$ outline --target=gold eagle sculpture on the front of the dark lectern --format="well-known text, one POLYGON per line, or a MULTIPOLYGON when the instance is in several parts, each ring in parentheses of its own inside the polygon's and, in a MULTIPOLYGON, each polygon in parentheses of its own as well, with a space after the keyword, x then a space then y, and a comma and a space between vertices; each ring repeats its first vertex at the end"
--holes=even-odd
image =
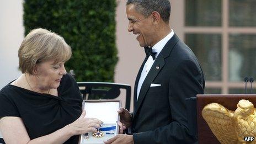
POLYGON ((244 137, 256 136, 256 109, 249 100, 240 100, 235 111, 218 103, 207 104, 202 117, 221 143, 245 143, 244 137))

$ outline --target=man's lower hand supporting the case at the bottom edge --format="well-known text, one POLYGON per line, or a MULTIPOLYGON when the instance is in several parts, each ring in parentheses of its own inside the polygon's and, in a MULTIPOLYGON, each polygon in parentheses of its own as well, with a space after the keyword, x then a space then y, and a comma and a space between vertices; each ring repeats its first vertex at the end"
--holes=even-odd
POLYGON ((116 135, 113 138, 110 138, 108 141, 104 141, 106 144, 133 144, 134 143, 134 138, 132 135, 116 135))

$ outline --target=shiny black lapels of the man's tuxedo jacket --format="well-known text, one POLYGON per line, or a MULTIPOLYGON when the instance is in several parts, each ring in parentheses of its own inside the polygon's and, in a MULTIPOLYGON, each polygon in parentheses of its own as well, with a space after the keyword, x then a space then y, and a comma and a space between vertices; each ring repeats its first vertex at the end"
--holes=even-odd
MULTIPOLYGON (((154 78, 156 78, 157 74, 161 71, 161 69, 165 65, 164 58, 166 58, 170 55, 170 52, 172 51, 175 44, 177 44, 178 40, 179 40, 178 36, 176 34, 174 34, 173 37, 163 47, 162 51, 160 52, 160 54, 157 56, 156 60, 154 61, 150 71, 148 72, 148 74, 141 86, 138 100, 136 101, 138 79, 140 79, 141 71, 142 71, 144 65, 141 66, 140 72, 137 75, 136 83, 135 83, 136 92, 134 92, 134 95, 136 94, 136 97, 134 97, 134 105, 135 105, 134 106, 135 107, 134 108, 134 116, 136 115, 138 108, 140 108, 140 105, 141 105, 143 99, 146 97, 146 93, 147 93, 148 89, 150 88, 150 85, 153 82, 154 78)), ((146 62, 146 60, 144 60, 143 64, 145 64, 145 62, 146 62)))

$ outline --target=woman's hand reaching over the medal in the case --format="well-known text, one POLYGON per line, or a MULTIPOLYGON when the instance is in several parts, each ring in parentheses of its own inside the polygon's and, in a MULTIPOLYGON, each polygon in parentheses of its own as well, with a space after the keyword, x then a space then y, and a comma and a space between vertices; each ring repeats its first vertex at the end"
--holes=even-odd
POLYGON ((97 131, 96 128, 99 128, 103 123, 98 119, 84 118, 84 116, 86 116, 85 110, 83 110, 83 113, 76 121, 66 126, 71 130, 72 135, 82 135, 86 134, 87 132, 97 131))

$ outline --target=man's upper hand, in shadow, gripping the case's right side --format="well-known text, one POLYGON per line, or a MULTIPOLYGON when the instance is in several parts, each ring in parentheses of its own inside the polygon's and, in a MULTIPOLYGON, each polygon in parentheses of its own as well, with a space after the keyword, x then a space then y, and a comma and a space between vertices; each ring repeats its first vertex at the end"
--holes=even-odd
POLYGON ((122 125, 125 127, 130 127, 132 119, 130 112, 125 108, 120 108, 118 113, 120 114, 120 122, 122 122, 122 125))

